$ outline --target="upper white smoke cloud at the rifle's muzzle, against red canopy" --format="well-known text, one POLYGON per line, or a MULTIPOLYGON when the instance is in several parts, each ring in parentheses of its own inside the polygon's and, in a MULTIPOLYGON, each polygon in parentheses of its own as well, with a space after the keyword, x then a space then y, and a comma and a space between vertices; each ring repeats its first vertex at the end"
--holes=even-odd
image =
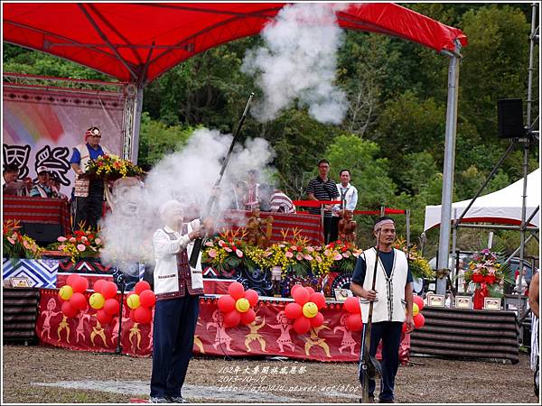
POLYGON ((241 67, 264 92, 251 110, 257 120, 272 120, 297 100, 319 122, 341 123, 348 106, 345 92, 333 85, 343 42, 335 12, 347 6, 285 5, 262 30, 266 46, 248 50, 241 67))

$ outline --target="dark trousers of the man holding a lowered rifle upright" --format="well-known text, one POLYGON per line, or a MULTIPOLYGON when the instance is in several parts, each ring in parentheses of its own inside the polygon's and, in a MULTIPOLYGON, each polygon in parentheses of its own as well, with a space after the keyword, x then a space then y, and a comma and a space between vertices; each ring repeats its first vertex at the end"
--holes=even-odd
MULTIPOLYGON (((373 323, 370 331, 369 354, 377 354, 378 344, 382 340, 382 377, 380 378, 380 395, 382 401, 393 401, 395 378, 399 368, 399 346, 401 344, 401 329, 403 323, 400 321, 379 321, 373 323)), ((365 383, 361 383, 365 385, 365 383)), ((374 396, 376 383, 369 379, 369 396, 374 396)))

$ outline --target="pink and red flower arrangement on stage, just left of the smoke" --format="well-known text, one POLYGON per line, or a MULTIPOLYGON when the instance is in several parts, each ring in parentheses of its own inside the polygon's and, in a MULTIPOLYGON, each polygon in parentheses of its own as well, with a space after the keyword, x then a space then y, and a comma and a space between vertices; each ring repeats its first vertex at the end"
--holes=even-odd
POLYGON ((72 263, 76 263, 80 258, 97 256, 103 247, 98 231, 90 228, 77 230, 73 235, 61 235, 57 241, 58 243, 53 243, 47 248, 70 256, 72 263))

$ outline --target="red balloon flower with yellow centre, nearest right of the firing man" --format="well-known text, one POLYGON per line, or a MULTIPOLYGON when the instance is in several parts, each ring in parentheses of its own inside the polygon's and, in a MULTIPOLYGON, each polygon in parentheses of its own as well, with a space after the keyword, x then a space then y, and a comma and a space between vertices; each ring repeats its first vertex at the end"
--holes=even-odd
POLYGON ((224 315, 224 325, 227 328, 237 327, 239 324, 250 324, 256 319, 254 307, 257 304, 257 291, 248 289, 237 281, 230 283, 228 295, 221 296, 217 306, 224 315))

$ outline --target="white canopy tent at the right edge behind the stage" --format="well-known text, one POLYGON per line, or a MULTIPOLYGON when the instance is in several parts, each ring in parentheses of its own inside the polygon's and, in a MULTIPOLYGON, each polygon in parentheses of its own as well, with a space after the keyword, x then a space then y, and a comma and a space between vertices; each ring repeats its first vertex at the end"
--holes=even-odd
MULTIPOLYGON (((504 189, 497 190, 474 200, 472 207, 465 214, 462 223, 500 223, 508 225, 521 224, 521 208, 523 197, 523 179, 520 179, 504 189)), ((460 217, 463 210, 469 206, 472 199, 458 201, 452 204, 451 218, 460 217), (454 216, 455 210, 455 216, 454 216)), ((526 219, 540 205, 540 168, 527 176, 527 212, 526 219)), ((441 222, 441 206, 425 207, 424 231, 441 222)), ((530 220, 528 226, 539 226, 539 211, 530 220)))

